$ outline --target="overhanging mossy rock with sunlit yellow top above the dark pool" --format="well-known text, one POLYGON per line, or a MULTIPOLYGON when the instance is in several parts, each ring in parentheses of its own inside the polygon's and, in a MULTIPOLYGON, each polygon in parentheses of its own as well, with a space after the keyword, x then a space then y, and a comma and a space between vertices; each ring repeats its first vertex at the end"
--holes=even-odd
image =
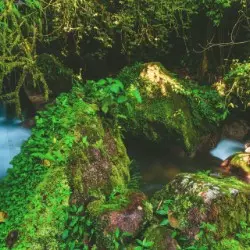
POLYGON ((118 79, 135 85, 142 95, 143 101, 137 105, 132 119, 134 123, 124 125, 135 134, 144 133, 153 140, 179 138, 188 151, 193 151, 202 148, 201 137, 211 134, 221 119, 216 91, 179 79, 160 63, 127 67, 118 79))

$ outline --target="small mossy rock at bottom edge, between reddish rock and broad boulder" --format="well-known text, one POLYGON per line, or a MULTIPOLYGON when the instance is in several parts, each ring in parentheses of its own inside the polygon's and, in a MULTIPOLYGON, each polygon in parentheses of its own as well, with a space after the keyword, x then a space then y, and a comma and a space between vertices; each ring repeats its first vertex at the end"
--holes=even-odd
POLYGON ((146 230, 147 241, 154 242, 155 250, 177 250, 180 249, 176 239, 172 237, 173 231, 163 226, 153 225, 146 230))

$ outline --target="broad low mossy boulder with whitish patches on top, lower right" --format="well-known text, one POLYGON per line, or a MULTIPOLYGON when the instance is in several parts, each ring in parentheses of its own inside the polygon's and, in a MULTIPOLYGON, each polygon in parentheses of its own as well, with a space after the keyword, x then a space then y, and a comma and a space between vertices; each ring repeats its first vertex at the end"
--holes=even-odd
POLYGON ((197 239, 204 223, 215 226, 214 237, 235 235, 241 223, 249 224, 250 186, 234 177, 180 174, 153 197, 155 207, 172 200, 168 220, 189 239, 197 239))

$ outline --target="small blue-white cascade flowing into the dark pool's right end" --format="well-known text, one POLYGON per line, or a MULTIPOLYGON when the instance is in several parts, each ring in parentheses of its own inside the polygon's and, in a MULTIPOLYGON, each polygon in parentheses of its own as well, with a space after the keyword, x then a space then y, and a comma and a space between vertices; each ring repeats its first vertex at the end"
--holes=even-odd
POLYGON ((244 151, 243 143, 235 140, 223 139, 210 151, 210 154, 221 160, 226 160, 229 156, 241 151, 244 151))

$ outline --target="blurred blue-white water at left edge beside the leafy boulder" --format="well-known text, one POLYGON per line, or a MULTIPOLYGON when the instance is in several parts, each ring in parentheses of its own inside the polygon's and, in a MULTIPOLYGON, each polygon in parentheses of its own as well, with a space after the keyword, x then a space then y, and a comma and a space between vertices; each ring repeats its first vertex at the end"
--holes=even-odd
POLYGON ((0 106, 0 178, 6 175, 11 159, 20 152, 30 133, 21 126, 20 120, 7 118, 5 107, 0 106))

